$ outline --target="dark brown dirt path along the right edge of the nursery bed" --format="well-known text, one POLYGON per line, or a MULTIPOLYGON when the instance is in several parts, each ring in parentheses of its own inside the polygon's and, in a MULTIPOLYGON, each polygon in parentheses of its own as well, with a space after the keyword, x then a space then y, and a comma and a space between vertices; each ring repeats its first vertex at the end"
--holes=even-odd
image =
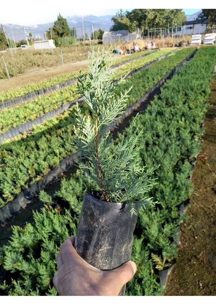
POLYGON ((194 194, 181 225, 179 254, 165 295, 216 295, 216 75, 201 153, 193 172, 194 194))

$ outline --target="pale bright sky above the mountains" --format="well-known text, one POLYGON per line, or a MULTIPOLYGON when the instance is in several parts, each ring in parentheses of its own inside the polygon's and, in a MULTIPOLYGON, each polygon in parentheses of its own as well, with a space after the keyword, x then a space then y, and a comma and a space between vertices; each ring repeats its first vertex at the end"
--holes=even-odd
MULTIPOLYGON (((102 2, 104 3, 104 1, 102 2)), ((106 5, 100 4, 99 0, 2 0, 0 5, 0 23, 13 23, 18 25, 36 25, 48 22, 54 22, 57 20, 59 13, 65 18, 71 15, 115 15, 120 8, 126 8, 124 10, 132 9, 171 9, 172 2, 163 0, 153 2, 151 4, 143 5, 144 1, 136 0, 136 2, 125 2, 125 0, 109 0, 106 1, 106 5), (135 5, 134 7, 128 6, 127 3, 135 5)), ((188 0, 182 0, 179 2, 181 7, 176 7, 175 9, 184 9, 185 14, 191 15, 200 11, 201 9, 192 9, 194 5, 188 5, 188 0), (191 9, 190 9, 191 8, 191 9)), ((205 5, 207 5, 205 3, 205 5)), ((210 5, 209 5, 210 6, 210 5)), ((203 7, 201 1, 196 1, 196 7, 203 7)))

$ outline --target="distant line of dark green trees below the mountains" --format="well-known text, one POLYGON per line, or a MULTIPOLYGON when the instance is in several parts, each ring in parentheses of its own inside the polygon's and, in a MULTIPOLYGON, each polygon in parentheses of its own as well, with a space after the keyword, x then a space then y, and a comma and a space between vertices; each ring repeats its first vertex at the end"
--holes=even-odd
MULTIPOLYGON (((216 25, 216 9, 202 9, 198 19, 208 20, 209 26, 216 25)), ((186 21, 186 16, 182 9, 134 9, 126 12, 118 11, 113 16, 112 21, 113 25, 110 31, 126 29, 131 33, 139 28, 144 34, 148 28, 168 28, 168 26, 172 28, 173 24, 181 25, 186 21)), ((101 28, 92 32, 91 40, 96 39, 102 42, 103 33, 104 31, 101 28)), ((78 40, 76 28, 70 28, 67 19, 61 14, 58 15, 54 25, 47 30, 45 38, 53 39, 57 47, 74 44, 78 40)), ((29 39, 33 41, 31 33, 29 39)), ((89 37, 86 33, 83 33, 80 40, 89 40, 89 37)), ((25 44, 25 41, 20 42, 20 44, 22 43, 25 44)), ((6 38, 2 27, 0 28, 0 50, 5 50, 7 47, 10 47, 10 40, 6 38)))

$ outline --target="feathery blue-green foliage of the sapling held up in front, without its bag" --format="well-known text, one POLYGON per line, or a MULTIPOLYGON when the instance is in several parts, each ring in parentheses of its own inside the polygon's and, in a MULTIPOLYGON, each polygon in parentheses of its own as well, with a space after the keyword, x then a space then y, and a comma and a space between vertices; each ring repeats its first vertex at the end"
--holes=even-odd
POLYGON ((142 167, 136 119, 130 124, 127 134, 113 140, 111 127, 125 111, 130 92, 116 94, 123 78, 113 82, 109 64, 110 52, 105 50, 89 54, 89 74, 80 71, 77 91, 90 108, 90 115, 82 114, 76 107, 77 125, 74 143, 79 151, 78 166, 96 182, 106 202, 129 204, 135 212, 134 202, 140 206, 153 204, 147 194, 155 184, 151 178, 153 169, 142 167))

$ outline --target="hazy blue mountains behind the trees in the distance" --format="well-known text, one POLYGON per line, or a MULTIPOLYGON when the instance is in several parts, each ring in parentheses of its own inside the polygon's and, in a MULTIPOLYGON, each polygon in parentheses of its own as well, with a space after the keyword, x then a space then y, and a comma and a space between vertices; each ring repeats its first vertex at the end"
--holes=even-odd
MULTIPOLYGON (((196 19, 198 14, 193 15, 186 15, 187 20, 194 20, 196 19)), ((105 16, 68 16, 65 17, 68 25, 70 28, 75 27, 76 33, 78 38, 82 38, 83 33, 86 33, 88 37, 91 37, 93 31, 98 30, 101 28, 104 32, 110 31, 111 26, 113 25, 112 15, 105 15, 105 16)), ((22 26, 18 24, 3 24, 6 35, 8 38, 15 40, 16 42, 20 40, 25 40, 26 37, 29 37, 29 33, 32 34, 34 39, 44 39, 44 33, 47 31, 48 28, 54 25, 54 22, 45 23, 45 24, 37 24, 31 26, 22 26)))

